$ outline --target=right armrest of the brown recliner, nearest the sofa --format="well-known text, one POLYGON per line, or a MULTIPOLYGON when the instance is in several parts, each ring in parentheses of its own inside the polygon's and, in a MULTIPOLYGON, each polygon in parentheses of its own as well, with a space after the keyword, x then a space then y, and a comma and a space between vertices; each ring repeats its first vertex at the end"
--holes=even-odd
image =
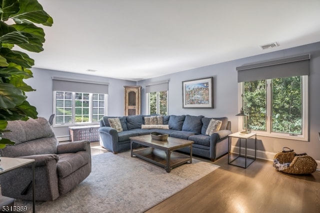
POLYGON ((78 151, 90 151, 90 141, 80 140, 74 142, 64 142, 57 145, 57 153, 75 153, 78 151))

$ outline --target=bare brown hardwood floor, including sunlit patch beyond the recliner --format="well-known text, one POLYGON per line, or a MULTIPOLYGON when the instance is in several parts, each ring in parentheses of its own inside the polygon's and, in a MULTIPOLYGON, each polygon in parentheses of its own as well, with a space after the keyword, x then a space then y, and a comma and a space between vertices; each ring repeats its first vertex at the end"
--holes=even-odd
MULTIPOLYGON (((92 154, 106 151, 91 142, 92 154)), ((245 169, 227 155, 213 163, 221 167, 145 212, 320 212, 320 171, 286 174, 262 159, 245 169)))

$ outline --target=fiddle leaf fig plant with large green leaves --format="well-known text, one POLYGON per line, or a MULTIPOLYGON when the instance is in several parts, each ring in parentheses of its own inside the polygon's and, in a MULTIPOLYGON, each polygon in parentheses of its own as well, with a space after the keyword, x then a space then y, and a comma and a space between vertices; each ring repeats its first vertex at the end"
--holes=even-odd
POLYGON ((36 118, 36 108, 26 100, 25 92, 34 91, 23 79, 32 76, 34 60, 21 49, 43 50, 44 31, 39 24, 51 26, 52 17, 37 0, 0 0, 0 148, 13 141, 3 138, 8 120, 36 118))

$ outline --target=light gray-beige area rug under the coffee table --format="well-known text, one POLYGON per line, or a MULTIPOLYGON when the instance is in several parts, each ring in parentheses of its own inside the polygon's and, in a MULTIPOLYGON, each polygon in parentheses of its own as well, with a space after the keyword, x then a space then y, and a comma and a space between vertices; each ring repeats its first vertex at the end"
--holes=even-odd
MULTIPOLYGON (((36 212, 143 212, 219 166, 192 159, 167 173, 130 152, 92 156, 92 172, 77 187, 54 201, 36 201, 36 212)), ((32 202, 16 200, 15 205, 32 202)))

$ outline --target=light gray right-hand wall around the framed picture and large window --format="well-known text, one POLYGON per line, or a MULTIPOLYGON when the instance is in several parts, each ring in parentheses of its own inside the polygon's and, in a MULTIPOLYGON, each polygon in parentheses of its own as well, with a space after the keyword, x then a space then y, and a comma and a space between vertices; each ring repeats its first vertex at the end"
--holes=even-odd
POLYGON ((309 74, 309 141, 297 141, 271 137, 257 137, 257 150, 260 157, 270 158, 275 152, 282 150, 283 146, 294 149, 297 153, 307 152, 313 158, 320 160, 320 42, 294 48, 269 52, 237 60, 212 64, 195 69, 163 75, 152 79, 138 81, 142 86, 142 113, 145 113, 145 85, 152 82, 169 80, 168 113, 204 115, 209 117, 227 116, 231 121, 231 130, 238 131, 238 83, 236 66, 244 64, 273 60, 276 58, 290 57, 310 53, 309 74), (207 108, 182 108, 182 81, 213 76, 213 104, 207 108))

